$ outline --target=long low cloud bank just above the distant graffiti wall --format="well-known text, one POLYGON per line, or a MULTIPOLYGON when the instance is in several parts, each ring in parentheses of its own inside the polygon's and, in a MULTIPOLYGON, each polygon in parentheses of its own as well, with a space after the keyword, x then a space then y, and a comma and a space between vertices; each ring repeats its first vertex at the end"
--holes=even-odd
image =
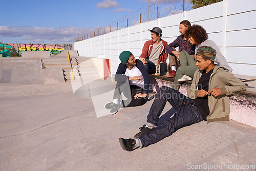
POLYGON ((32 28, 32 27, 7 27, 0 26, 0 35, 2 39, 18 38, 22 40, 31 40, 38 42, 38 40, 48 41, 73 41, 92 29, 90 28, 76 28, 76 27, 61 27, 61 28, 32 28))

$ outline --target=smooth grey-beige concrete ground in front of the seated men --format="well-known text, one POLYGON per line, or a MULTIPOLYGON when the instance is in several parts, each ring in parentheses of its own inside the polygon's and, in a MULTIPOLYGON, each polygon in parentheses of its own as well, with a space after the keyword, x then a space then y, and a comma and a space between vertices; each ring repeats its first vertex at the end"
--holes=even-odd
POLYGON ((71 82, 0 91, 0 170, 256 170, 256 128, 233 120, 203 121, 126 152, 118 138, 139 132, 154 99, 97 117, 95 102, 74 97, 71 82))

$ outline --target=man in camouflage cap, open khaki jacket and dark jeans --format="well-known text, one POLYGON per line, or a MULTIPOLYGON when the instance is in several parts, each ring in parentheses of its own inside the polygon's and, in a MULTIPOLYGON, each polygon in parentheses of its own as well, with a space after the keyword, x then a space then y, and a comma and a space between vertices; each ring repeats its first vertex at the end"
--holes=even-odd
POLYGON ((202 46, 196 54, 198 70, 194 74, 187 96, 169 87, 161 87, 147 115, 147 123, 140 127, 135 139, 119 138, 126 151, 143 148, 172 135, 182 127, 200 121, 228 121, 229 96, 246 90, 246 85, 227 69, 216 66, 216 50, 202 46), (166 102, 177 111, 172 118, 157 126, 166 102))

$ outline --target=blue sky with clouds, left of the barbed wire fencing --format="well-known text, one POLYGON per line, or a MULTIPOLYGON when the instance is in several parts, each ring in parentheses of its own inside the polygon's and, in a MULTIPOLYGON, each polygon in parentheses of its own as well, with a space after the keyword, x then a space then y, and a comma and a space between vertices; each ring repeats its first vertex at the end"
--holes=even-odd
MULTIPOLYGON (((150 6, 156 1, 150 0, 150 6)), ((146 9, 148 0, 0 0, 0 4, 0 42, 50 44, 72 43, 94 28, 146 9)))

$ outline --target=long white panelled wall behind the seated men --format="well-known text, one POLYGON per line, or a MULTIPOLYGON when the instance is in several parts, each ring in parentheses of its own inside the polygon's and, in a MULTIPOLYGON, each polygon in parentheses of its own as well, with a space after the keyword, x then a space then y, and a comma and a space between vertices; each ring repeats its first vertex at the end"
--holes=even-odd
POLYGON ((226 57, 234 74, 256 76, 256 1, 224 0, 202 8, 158 18, 151 22, 124 28, 74 42, 79 56, 110 59, 111 74, 120 63, 119 54, 130 50, 136 58, 144 42, 150 40, 153 27, 160 27, 168 44, 180 35, 179 23, 187 19, 204 27, 226 57))

